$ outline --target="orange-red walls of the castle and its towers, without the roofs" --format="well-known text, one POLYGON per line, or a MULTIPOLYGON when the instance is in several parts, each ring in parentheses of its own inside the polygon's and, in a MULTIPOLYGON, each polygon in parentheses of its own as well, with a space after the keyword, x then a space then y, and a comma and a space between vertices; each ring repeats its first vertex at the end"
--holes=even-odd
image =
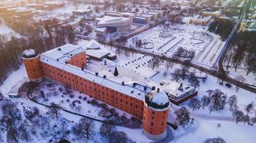
MULTIPOLYGON (((144 131, 147 132, 147 134, 152 134, 154 136, 165 132, 168 110, 162 112, 155 111, 155 114, 152 114, 152 112, 154 112, 153 109, 145 107, 142 100, 116 92, 114 89, 109 89, 96 82, 88 81, 83 77, 79 77, 78 75, 63 69, 58 69, 58 67, 51 66, 50 64, 46 64, 45 62, 40 61, 38 56, 40 55, 29 59, 22 57, 29 79, 44 77, 45 79, 50 79, 63 84, 70 89, 99 99, 101 102, 105 102, 113 107, 122 109, 124 112, 132 114, 134 117, 143 119, 144 131)), ((73 66, 79 67, 85 66, 86 53, 82 52, 81 54, 76 55, 75 59, 71 59, 69 62, 66 62, 66 64, 73 64, 73 66)))

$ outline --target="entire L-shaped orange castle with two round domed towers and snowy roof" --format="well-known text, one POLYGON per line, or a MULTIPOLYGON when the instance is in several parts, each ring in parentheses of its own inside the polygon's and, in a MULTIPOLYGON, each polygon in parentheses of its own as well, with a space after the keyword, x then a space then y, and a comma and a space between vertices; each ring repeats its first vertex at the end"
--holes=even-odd
POLYGON ((27 49, 22 59, 30 81, 50 79, 63 84, 142 119, 143 133, 149 139, 158 141, 166 137, 170 107, 166 92, 145 83, 117 82, 84 69, 86 49, 72 44, 42 54, 27 49))

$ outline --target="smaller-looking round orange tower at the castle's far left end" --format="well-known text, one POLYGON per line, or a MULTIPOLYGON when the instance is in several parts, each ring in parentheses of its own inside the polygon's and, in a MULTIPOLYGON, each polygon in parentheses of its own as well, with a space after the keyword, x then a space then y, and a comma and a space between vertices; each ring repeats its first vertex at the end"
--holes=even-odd
POLYGON ((27 49, 23 52, 22 59, 29 80, 32 82, 42 81, 39 54, 34 49, 27 49))

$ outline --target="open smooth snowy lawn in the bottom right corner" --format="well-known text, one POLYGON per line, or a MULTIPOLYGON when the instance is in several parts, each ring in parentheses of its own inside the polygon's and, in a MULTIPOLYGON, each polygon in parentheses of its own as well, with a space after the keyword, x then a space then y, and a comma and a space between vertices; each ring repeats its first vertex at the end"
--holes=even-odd
POLYGON ((204 142, 208 138, 221 137, 227 143, 255 143, 256 127, 247 124, 235 124, 234 122, 214 119, 197 119, 199 126, 195 132, 186 134, 172 143, 204 142), (221 124, 221 127, 217 127, 221 124))

